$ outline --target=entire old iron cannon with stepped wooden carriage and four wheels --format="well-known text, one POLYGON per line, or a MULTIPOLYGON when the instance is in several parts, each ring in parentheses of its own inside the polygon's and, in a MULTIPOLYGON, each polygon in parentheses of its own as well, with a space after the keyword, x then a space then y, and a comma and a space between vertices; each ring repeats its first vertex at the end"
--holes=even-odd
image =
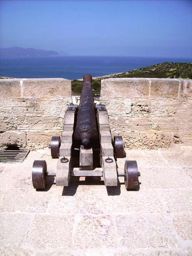
POLYGON ((92 76, 84 75, 79 106, 67 105, 64 129, 51 139, 51 156, 57 158, 56 173, 48 173, 45 160, 35 160, 32 183, 35 189, 45 189, 47 178, 56 177, 56 186, 68 186, 71 176, 100 176, 104 184, 117 186, 123 176, 127 190, 138 190, 138 166, 126 160, 124 172, 118 172, 117 158, 124 158, 121 136, 112 138, 109 116, 104 104, 95 105, 92 76))

